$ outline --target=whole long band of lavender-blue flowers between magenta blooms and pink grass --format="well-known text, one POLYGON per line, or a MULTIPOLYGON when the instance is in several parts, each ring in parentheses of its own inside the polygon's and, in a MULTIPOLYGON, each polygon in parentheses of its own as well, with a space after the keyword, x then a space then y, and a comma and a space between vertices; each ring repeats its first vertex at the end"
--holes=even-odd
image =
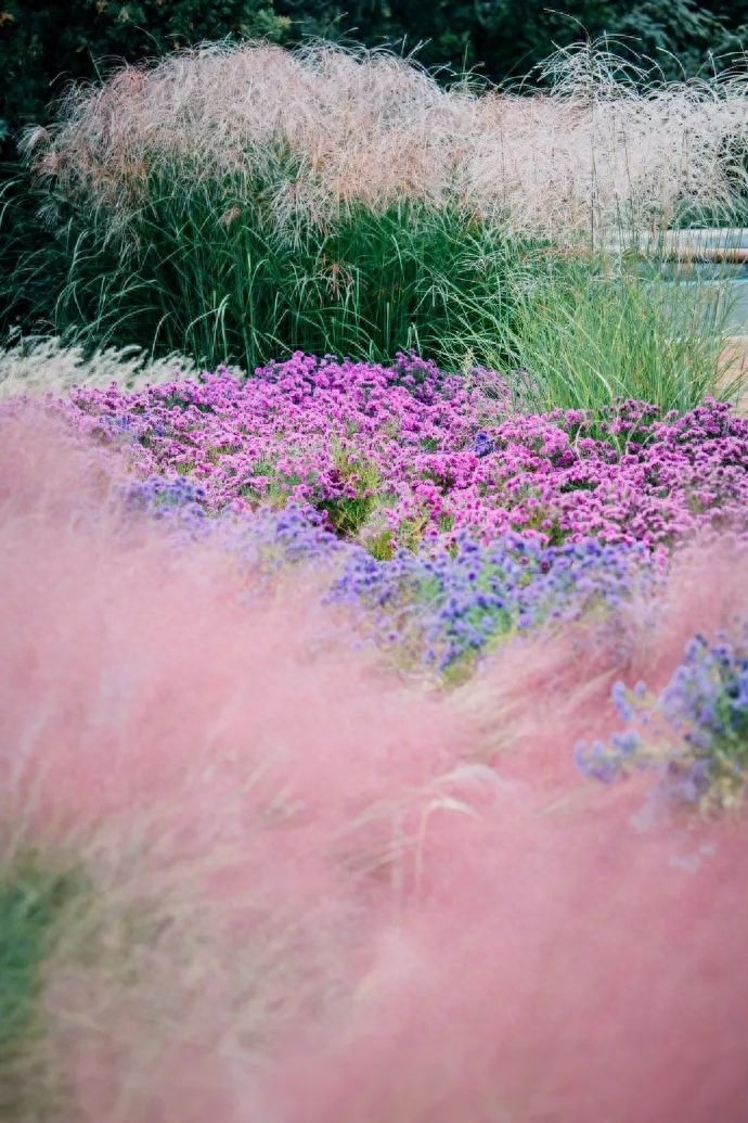
POLYGON ((400 550, 376 559, 324 528, 323 517, 293 504, 250 518, 206 515, 204 489, 184 477, 151 476, 123 489, 126 506, 167 523, 182 541, 220 535, 255 568, 314 559, 327 565, 326 600, 347 605, 364 632, 397 643, 412 661, 440 673, 467 666, 497 638, 543 623, 610 612, 635 592, 650 594, 661 568, 645 547, 595 539, 560 547, 505 535, 489 546, 462 532, 450 550, 400 550))

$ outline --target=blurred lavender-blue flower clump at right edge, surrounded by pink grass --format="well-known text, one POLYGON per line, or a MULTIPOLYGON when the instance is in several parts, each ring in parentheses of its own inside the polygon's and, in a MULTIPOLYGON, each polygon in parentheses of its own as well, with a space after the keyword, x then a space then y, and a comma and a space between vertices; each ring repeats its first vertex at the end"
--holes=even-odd
POLYGON ((738 642, 695 636, 658 696, 619 682, 612 697, 627 728, 608 745, 578 745, 585 775, 611 783, 655 768, 667 793, 687 803, 737 802, 748 785, 748 628, 738 642))

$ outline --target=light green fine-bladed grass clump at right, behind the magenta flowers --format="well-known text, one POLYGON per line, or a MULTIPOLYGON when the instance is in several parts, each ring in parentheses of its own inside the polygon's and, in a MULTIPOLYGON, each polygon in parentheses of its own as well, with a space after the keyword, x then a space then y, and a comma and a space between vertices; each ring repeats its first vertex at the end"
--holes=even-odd
POLYGON ((467 316, 451 358, 455 364, 469 354, 487 366, 508 364, 523 409, 599 411, 637 399, 687 410, 715 391, 722 295, 719 285, 668 284, 626 272, 606 276, 551 262, 518 294, 510 322, 497 320, 492 331, 475 334, 467 316))

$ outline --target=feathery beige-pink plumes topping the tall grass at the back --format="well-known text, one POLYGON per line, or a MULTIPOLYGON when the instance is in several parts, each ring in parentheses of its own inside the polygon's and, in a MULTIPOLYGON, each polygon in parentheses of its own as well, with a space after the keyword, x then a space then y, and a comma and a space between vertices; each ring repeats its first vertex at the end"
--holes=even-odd
POLYGON ((418 200, 574 240, 665 228, 684 206, 733 211, 747 179, 746 76, 636 76, 584 45, 548 63, 546 92, 517 97, 470 81, 444 89, 381 51, 209 44, 73 86, 26 149, 41 176, 120 218, 157 168, 238 176, 240 192, 265 181, 281 225, 418 200))

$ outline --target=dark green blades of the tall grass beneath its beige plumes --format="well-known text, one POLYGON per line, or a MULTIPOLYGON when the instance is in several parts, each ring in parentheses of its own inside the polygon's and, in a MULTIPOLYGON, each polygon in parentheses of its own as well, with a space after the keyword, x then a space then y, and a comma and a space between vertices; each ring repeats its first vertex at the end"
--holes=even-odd
POLYGON ((67 203, 0 300, 22 293, 27 319, 89 349, 176 347, 246 369, 298 348, 388 360, 415 347, 442 359, 465 301, 475 330, 510 314, 508 279, 526 270, 526 250, 500 229, 418 201, 381 214, 351 207, 332 226, 279 225, 266 188, 163 170, 116 234, 103 210, 67 203))

